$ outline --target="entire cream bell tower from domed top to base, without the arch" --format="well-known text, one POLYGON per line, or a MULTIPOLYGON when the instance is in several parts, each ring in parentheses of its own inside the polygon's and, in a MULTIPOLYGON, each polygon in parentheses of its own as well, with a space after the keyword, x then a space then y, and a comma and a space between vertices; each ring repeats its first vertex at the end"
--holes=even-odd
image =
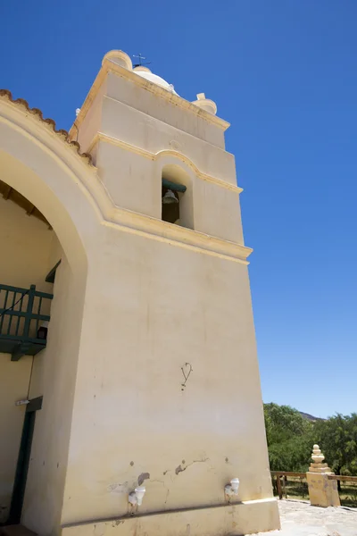
POLYGON ((70 521, 99 520, 124 517, 135 504, 140 517, 113 535, 279 526, 248 278, 252 250, 243 239, 235 159, 225 150, 229 124, 216 113, 204 93, 189 102, 114 50, 71 128, 112 200, 112 222, 104 222, 88 268, 97 308, 88 314, 105 336, 79 368, 77 450, 69 455, 76 465, 64 508, 70 521), (104 323, 99 303, 110 311, 104 323))

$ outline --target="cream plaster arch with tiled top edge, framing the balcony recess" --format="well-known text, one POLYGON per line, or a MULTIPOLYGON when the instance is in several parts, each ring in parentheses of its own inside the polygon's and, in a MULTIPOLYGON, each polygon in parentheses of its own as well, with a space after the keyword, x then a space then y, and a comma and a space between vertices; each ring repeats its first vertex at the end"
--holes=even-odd
MULTIPOLYGON (((98 225, 101 213, 86 187, 87 182, 93 180, 93 169, 69 144, 63 142, 62 135, 57 135, 35 114, 31 116, 20 108, 0 99, 0 180, 26 198, 33 205, 33 210, 38 210, 49 222, 53 231, 47 228, 46 231, 58 238, 57 253, 61 256, 62 263, 54 282, 46 349, 36 357, 29 356, 30 361, 25 367, 21 366, 21 362, 9 363, 9 354, 2 354, 0 358, 6 360, 8 368, 12 367, 15 379, 18 375, 19 383, 22 381, 21 389, 16 392, 17 398, 25 399, 26 403, 26 398, 43 397, 43 406, 38 412, 33 435, 22 520, 28 526, 34 526, 36 522, 38 526, 38 518, 41 517, 43 532, 49 533, 59 523, 61 516, 87 281, 87 249, 90 247, 90 234, 98 225)), ((18 209, 20 210, 19 206, 16 207, 18 209)), ((6 217, 4 211, 0 217, 2 214, 6 217)), ((45 222, 39 223, 46 225, 45 222)), ((24 247, 23 241, 19 241, 19 246, 24 247)), ((15 250, 16 243, 13 245, 13 251, 15 250)), ((15 263, 14 258, 12 265, 15 263)), ((3 268, 4 266, 3 263, 3 268)), ((6 270, 6 281, 10 284, 9 266, 11 263, 6 264, 2 273, 0 264, 0 283, 6 270)), ((23 262, 16 265, 12 275, 14 279, 18 278, 18 282, 14 286, 20 286, 21 278, 21 281, 26 280, 25 272, 28 268, 23 262)), ((4 374, 0 378, 0 385, 1 383, 6 384, 4 374)), ((12 398, 13 393, 10 394, 9 402, 12 411, 18 412, 19 422, 19 417, 21 420, 25 415, 26 404, 15 406, 17 400, 12 398)), ((9 424, 9 419, 6 423, 9 424)), ((6 431, 0 432, 6 437, 6 431)), ((20 441, 21 431, 17 435, 20 441)), ((19 445, 13 446, 15 457, 18 447, 19 445)), ((6 500, 8 509, 9 498, 6 500)))

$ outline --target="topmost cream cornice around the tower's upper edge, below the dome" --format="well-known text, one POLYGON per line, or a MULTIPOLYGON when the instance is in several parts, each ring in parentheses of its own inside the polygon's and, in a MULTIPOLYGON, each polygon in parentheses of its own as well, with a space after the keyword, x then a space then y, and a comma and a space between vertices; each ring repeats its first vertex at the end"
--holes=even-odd
POLYGON ((154 84, 154 82, 150 82, 149 80, 144 79, 143 77, 139 76, 135 71, 129 71, 128 69, 121 67, 117 63, 113 63, 109 59, 104 59, 104 63, 100 71, 98 72, 95 78, 95 81, 89 90, 89 93, 87 94, 86 100, 84 101, 83 105, 80 108, 79 115, 76 118, 76 120, 73 122, 73 125, 71 126, 71 129, 70 129, 71 138, 74 138, 77 135, 77 130, 79 129, 81 122, 84 121, 87 115, 87 112, 90 108, 90 105, 93 103, 95 99, 98 89, 101 87, 106 75, 109 72, 113 72, 117 74, 118 76, 120 76, 121 78, 131 80, 137 86, 141 88, 145 88, 147 91, 154 93, 155 95, 161 97, 162 99, 166 101, 172 102, 172 104, 178 106, 179 108, 188 110, 191 113, 195 113, 195 115, 197 115, 198 117, 202 117, 205 121, 213 123, 214 125, 219 127, 221 130, 227 130, 228 127, 230 126, 230 123, 228 123, 228 121, 225 121, 224 119, 220 119, 220 117, 217 117, 217 115, 213 115, 212 113, 206 112, 206 110, 203 110, 203 108, 200 108, 199 106, 196 106, 193 103, 190 103, 189 101, 182 98, 181 96, 175 95, 174 93, 171 93, 167 89, 162 88, 158 86, 157 84, 154 84))

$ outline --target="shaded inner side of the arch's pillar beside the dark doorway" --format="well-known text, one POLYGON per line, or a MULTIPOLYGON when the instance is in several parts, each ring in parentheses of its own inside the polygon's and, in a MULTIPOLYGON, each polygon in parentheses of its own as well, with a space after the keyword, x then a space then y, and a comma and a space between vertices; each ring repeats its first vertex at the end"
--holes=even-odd
POLYGON ((77 278, 61 256, 47 348, 35 358, 29 391, 31 398, 43 396, 43 406, 37 412, 22 523, 44 536, 57 533, 61 518, 86 283, 86 273, 77 278))

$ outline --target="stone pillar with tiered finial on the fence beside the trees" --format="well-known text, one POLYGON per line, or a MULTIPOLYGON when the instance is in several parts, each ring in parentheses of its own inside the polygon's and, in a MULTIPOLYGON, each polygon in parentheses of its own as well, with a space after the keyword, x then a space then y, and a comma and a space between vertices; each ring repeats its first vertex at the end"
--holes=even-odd
POLYGON ((328 474, 332 473, 328 464, 323 464, 325 456, 321 453, 319 445, 314 445, 309 472, 306 473, 309 487, 309 497, 313 507, 340 507, 337 482, 328 480, 328 474))

